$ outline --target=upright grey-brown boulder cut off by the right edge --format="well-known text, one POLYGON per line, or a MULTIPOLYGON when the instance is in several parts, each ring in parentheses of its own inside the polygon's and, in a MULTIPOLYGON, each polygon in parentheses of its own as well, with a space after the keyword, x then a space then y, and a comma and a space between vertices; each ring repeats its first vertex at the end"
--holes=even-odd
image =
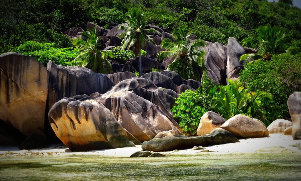
POLYGON ((301 92, 295 92, 287 100, 290 117, 293 122, 293 139, 301 139, 301 92))

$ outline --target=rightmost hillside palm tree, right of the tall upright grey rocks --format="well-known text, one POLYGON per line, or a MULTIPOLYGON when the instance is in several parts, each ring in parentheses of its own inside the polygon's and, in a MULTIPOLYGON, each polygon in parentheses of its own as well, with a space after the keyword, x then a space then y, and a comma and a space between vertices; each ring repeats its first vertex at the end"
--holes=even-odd
MULTIPOLYGON (((286 35, 281 32, 277 26, 259 27, 256 40, 245 38, 242 40, 243 45, 256 48, 257 53, 248 53, 240 56, 240 61, 243 60, 268 60, 270 61, 273 54, 281 53, 281 48, 287 42, 286 35)), ((289 48, 286 52, 295 52, 295 48, 289 48)))

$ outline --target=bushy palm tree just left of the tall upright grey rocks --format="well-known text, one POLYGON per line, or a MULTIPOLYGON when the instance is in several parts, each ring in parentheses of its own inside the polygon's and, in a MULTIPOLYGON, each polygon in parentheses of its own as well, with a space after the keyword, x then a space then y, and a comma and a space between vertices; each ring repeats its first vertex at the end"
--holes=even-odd
POLYGON ((205 51, 201 48, 205 42, 192 38, 191 34, 186 33, 187 26, 181 26, 172 32, 172 39, 165 38, 161 42, 162 49, 157 55, 159 60, 170 57, 174 58, 168 65, 167 70, 173 70, 184 79, 200 80, 200 73, 197 69, 201 66, 206 70, 204 64, 205 51))

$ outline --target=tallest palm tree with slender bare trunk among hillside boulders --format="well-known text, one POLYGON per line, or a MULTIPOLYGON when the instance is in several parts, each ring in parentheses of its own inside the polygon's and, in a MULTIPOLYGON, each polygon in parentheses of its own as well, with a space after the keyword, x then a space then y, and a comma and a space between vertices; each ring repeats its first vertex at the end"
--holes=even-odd
POLYGON ((156 44, 153 39, 151 39, 147 34, 160 34, 157 30, 145 29, 147 21, 150 18, 145 18, 145 14, 138 10, 137 8, 132 9, 132 13, 126 16, 127 25, 120 25, 120 30, 125 30, 126 32, 119 35, 119 38, 123 38, 121 42, 121 48, 131 48, 134 47, 135 56, 139 55, 139 73, 142 76, 142 65, 141 65, 141 46, 145 47, 147 42, 151 44, 156 44))

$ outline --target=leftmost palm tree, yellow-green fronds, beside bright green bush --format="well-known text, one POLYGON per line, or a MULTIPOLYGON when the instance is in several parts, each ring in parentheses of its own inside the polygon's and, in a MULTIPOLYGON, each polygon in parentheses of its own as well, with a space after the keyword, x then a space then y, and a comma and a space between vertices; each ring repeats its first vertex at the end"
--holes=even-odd
POLYGON ((81 53, 74 58, 72 62, 79 59, 82 61, 82 67, 90 67, 94 72, 106 73, 104 64, 107 66, 110 73, 112 73, 112 66, 107 60, 108 57, 114 57, 114 53, 110 50, 100 50, 101 38, 97 36, 96 26, 93 30, 87 29, 86 32, 81 34, 82 38, 76 38, 73 40, 73 45, 76 46, 81 53), (85 40, 84 40, 85 39, 85 40))

